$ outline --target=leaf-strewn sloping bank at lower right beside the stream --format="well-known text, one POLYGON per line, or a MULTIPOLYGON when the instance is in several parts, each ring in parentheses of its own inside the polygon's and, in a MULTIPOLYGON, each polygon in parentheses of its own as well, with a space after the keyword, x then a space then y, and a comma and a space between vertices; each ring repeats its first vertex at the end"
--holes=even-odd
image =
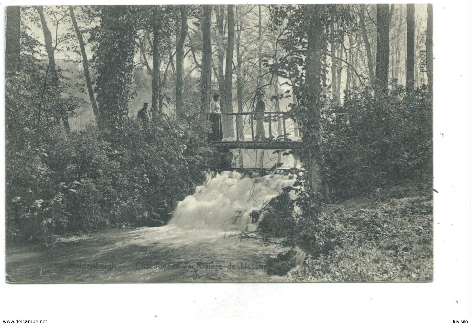
POLYGON ((431 184, 377 188, 341 204, 326 204, 318 215, 335 237, 298 235, 309 256, 298 282, 428 282, 433 278, 433 207, 431 184), (315 247, 324 241, 329 249, 315 247))

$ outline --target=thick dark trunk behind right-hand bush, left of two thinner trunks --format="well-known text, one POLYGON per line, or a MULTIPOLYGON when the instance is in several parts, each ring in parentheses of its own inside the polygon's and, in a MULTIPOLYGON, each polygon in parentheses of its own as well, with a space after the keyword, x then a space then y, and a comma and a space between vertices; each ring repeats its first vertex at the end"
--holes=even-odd
POLYGON ((374 90, 376 94, 388 92, 389 75, 389 5, 376 5, 376 80, 374 90))

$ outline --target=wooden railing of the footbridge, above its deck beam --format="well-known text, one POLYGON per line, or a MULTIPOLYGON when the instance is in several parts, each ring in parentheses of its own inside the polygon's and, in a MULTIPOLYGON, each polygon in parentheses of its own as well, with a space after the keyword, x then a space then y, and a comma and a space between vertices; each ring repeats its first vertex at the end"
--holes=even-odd
MULTIPOLYGON (((301 141, 288 111, 221 113, 223 141, 301 141)), ((207 114, 208 116, 211 114, 207 114)))

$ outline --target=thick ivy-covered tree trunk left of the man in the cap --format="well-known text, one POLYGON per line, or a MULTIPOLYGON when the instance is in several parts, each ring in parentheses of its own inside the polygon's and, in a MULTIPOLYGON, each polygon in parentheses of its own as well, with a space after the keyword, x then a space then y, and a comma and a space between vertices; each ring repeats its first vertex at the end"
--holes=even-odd
POLYGON ((129 114, 137 38, 135 8, 103 6, 94 30, 98 125, 120 130, 129 114))

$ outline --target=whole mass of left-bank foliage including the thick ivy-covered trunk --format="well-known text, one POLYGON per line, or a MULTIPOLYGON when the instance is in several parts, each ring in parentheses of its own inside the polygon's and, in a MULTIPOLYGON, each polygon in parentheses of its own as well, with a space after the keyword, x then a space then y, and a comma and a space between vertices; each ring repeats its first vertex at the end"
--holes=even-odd
POLYGON ((132 6, 95 10, 101 18, 91 32, 99 118, 79 132, 67 132, 62 122, 83 103, 70 94, 83 85, 69 89, 58 67, 51 82, 42 44, 21 34, 21 69, 6 79, 9 241, 165 224, 175 202, 200 182, 201 170, 227 163, 219 158, 227 152, 214 154, 208 143, 198 93, 185 93, 179 121, 164 114, 150 122, 129 118, 140 14, 132 6))

